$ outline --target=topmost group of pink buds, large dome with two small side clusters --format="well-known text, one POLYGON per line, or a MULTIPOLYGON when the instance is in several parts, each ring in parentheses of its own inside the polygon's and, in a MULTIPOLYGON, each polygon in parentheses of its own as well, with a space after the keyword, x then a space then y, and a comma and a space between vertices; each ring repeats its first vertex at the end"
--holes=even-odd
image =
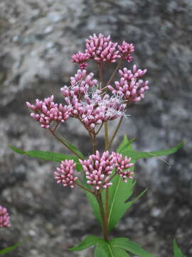
POLYGON ((78 52, 71 56, 71 61, 80 64, 80 69, 85 69, 87 64, 85 61, 94 59, 97 63, 109 62, 114 63, 119 58, 127 59, 128 62, 132 61, 132 52, 134 45, 126 41, 122 45, 118 45, 110 40, 109 36, 93 34, 90 39, 85 40, 85 53, 78 52), (118 50, 119 49, 119 50, 118 50))

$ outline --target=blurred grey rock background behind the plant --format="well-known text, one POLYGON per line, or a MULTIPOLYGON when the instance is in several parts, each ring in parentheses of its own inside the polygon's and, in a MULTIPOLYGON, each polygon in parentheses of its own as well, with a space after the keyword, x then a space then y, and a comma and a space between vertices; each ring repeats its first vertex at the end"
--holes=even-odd
MULTIPOLYGON (((62 102, 60 87, 78 69, 71 54, 84 51, 85 39, 100 32, 133 43, 134 64, 148 69, 150 90, 129 108, 115 145, 124 133, 137 137, 140 151, 185 141, 165 157, 171 167, 158 158, 138 161, 135 195, 146 187, 148 192, 113 236, 132 238, 156 257, 173 256, 176 238, 186 257, 192 256, 192 1, 0 0, 0 14, 0 204, 9 209, 12 225, 1 229, 0 247, 29 236, 7 256, 92 256, 91 249, 66 251, 84 236, 100 236, 84 193, 55 183, 57 163, 19 156, 8 145, 68 153, 30 118, 25 102, 51 94, 62 102)), ((59 131, 90 152, 86 131, 73 120, 59 131)))

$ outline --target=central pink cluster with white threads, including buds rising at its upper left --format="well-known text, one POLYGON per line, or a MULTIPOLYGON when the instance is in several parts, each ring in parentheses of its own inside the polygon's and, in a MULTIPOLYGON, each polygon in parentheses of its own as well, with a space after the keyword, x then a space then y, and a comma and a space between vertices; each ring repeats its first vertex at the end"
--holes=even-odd
POLYGON ((64 86, 60 89, 71 116, 80 119, 88 129, 105 121, 117 119, 124 116, 125 104, 117 96, 110 97, 108 94, 102 95, 102 90, 95 89, 96 79, 92 79, 94 74, 87 75, 85 70, 78 70, 74 77, 71 77, 71 86, 64 86), (88 91, 92 87, 92 92, 88 91))

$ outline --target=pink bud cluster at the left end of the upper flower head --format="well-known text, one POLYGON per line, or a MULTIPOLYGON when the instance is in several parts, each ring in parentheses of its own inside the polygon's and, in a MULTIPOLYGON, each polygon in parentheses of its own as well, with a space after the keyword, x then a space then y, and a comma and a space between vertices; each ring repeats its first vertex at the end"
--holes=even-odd
POLYGON ((68 106, 63 106, 62 104, 55 104, 53 102, 54 97, 51 96, 44 101, 36 99, 36 105, 26 102, 31 111, 31 117, 36 121, 39 121, 42 128, 49 129, 50 123, 52 121, 64 122, 70 117, 70 111, 68 106))

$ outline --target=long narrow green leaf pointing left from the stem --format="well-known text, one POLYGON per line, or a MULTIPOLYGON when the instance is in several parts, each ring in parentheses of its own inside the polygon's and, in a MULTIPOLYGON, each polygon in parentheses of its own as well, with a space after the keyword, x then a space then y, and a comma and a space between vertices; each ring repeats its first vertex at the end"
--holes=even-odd
POLYGON ((19 154, 26 154, 29 157, 33 158, 39 158, 41 160, 46 160, 46 161, 63 161, 63 160, 73 160, 77 164, 76 169, 77 171, 82 170, 82 166, 79 163, 78 157, 76 156, 68 156, 63 153, 53 153, 50 151, 23 151, 21 149, 18 149, 14 146, 9 146, 13 151, 19 154))

